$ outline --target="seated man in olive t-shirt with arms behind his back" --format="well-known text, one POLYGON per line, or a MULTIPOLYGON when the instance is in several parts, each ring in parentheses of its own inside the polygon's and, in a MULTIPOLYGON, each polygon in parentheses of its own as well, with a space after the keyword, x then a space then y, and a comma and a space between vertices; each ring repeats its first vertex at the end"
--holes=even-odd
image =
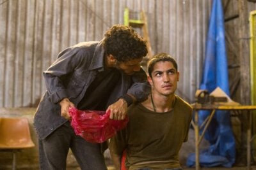
POLYGON ((148 62, 148 82, 152 94, 142 103, 132 104, 127 127, 109 144, 116 169, 125 150, 125 166, 133 169, 181 169, 179 151, 188 140, 191 106, 175 95, 179 72, 166 53, 148 62))

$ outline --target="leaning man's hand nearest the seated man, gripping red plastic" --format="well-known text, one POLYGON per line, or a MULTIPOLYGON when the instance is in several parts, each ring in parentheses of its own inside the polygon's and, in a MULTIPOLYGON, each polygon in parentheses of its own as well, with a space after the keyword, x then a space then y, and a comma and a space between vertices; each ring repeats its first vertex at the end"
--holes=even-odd
POLYGON ((116 103, 108 106, 107 111, 110 111, 109 118, 114 120, 124 120, 127 114, 127 103, 124 99, 119 99, 116 103))

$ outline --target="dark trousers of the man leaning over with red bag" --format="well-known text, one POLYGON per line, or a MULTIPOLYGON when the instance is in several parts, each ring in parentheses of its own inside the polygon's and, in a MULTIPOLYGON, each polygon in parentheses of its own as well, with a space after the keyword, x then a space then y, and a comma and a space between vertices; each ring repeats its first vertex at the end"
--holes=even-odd
POLYGON ((41 170, 65 170, 69 148, 82 170, 106 170, 100 144, 89 143, 76 136, 70 122, 62 125, 47 138, 39 140, 41 170))

